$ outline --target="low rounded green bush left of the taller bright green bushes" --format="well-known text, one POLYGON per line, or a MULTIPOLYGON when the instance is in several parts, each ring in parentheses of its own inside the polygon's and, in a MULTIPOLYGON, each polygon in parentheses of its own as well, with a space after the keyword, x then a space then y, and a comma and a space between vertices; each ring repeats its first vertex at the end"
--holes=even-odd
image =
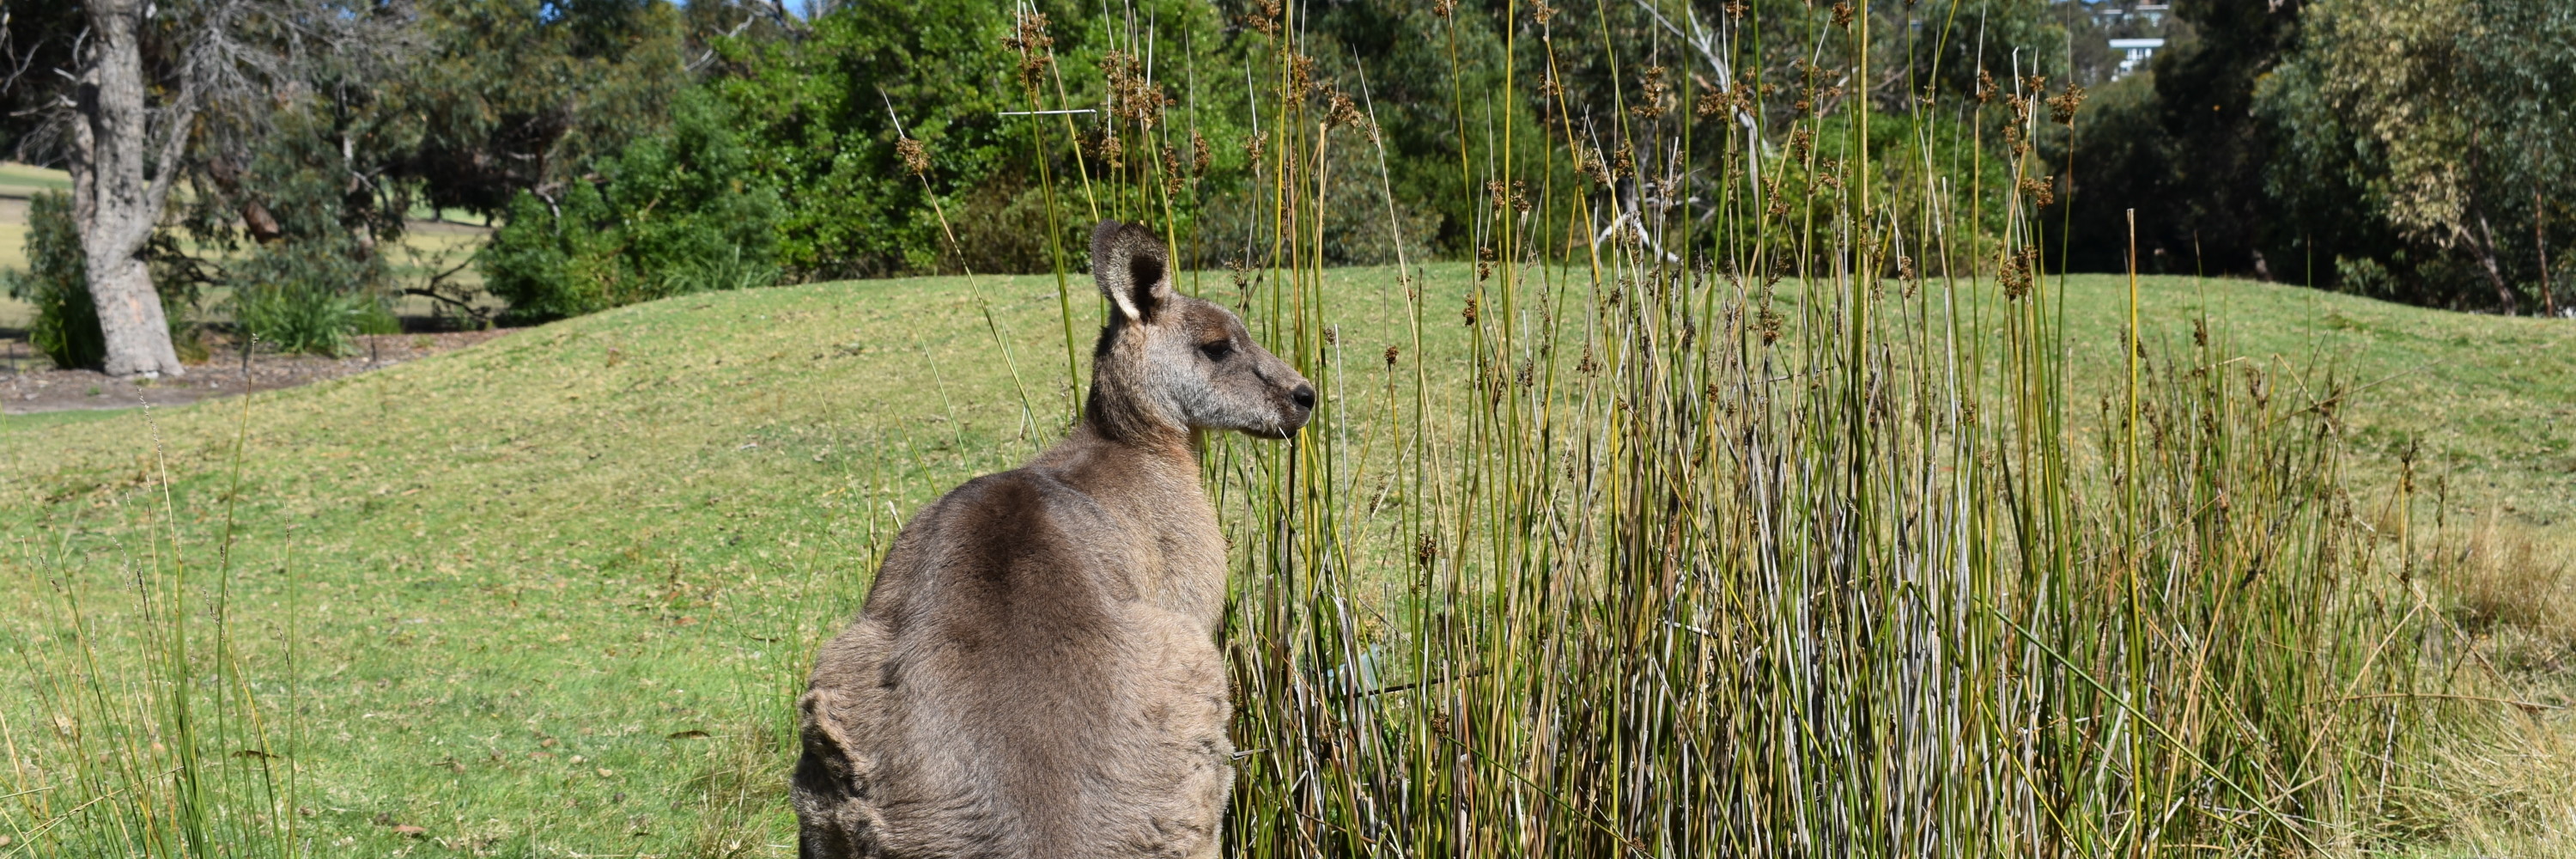
POLYGON ((683 95, 672 129, 546 201, 520 191, 479 253, 513 320, 556 320, 688 291, 778 281, 778 199, 744 181, 732 111, 683 95))

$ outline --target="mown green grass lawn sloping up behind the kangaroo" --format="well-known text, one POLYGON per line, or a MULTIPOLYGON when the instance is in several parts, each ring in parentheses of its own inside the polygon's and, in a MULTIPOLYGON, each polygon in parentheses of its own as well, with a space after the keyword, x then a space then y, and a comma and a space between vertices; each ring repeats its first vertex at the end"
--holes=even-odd
MULTIPOLYGON (((1435 266, 1425 286, 1440 400, 1468 281, 1435 266)), ((0 720, 52 720, 21 689, 59 650, 59 593, 93 647, 129 653, 152 534, 211 583, 229 521, 232 642, 276 733, 296 725, 322 854, 793 854, 781 725, 811 645, 902 516, 1061 428, 1056 281, 976 284, 1012 361, 966 279, 902 279, 680 297, 247 400, 0 418, 0 601, 46 606, 0 614, 0 720)), ((1100 302, 1072 289, 1087 351, 1100 302)), ((1401 289, 1391 268, 1327 289, 1350 353, 1327 395, 1365 433, 1381 351, 1412 359, 1401 289)), ((2156 356, 2205 315, 2277 384, 2349 382, 2357 495, 2419 446, 2419 482, 2463 511, 2576 516, 2576 325, 2246 281, 2143 297, 2156 356)), ((2123 312, 2120 279, 2071 279, 2079 431, 2117 387, 2123 312)))

